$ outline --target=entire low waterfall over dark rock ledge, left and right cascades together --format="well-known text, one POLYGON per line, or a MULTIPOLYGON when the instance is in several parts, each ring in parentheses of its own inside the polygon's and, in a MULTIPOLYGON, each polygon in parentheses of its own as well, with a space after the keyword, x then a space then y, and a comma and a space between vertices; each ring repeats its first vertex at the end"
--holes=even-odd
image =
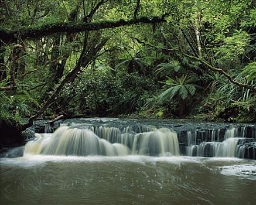
POLYGON ((26 144, 24 153, 77 156, 178 156, 181 153, 187 156, 255 159, 254 125, 207 125, 190 131, 166 122, 155 126, 140 121, 97 119, 86 123, 66 122, 49 134, 52 131, 46 125, 48 133, 36 134, 36 139, 26 144))

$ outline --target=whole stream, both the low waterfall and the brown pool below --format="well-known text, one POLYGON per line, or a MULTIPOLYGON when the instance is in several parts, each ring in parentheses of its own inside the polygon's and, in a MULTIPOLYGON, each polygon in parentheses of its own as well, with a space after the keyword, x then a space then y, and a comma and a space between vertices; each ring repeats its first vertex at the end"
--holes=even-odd
POLYGON ((1 204, 255 204, 256 160, 241 159, 255 156, 254 125, 151 124, 87 119, 36 134, 1 158, 1 204))

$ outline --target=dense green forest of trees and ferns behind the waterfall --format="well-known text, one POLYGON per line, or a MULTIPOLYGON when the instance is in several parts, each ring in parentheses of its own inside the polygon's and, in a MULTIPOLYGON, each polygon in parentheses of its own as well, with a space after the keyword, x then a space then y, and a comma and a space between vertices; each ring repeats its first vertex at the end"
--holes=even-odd
POLYGON ((22 124, 38 114, 256 122, 253 1, 54 2, 1 2, 1 26, 26 32, 50 22, 164 19, 2 39, 1 120, 22 124))

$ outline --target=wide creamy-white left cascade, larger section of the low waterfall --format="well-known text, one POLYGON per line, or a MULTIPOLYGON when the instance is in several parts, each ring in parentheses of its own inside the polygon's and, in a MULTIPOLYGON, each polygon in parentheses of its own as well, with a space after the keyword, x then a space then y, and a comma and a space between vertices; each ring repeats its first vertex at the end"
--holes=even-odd
POLYGON ((25 145, 30 155, 179 155, 177 134, 168 128, 67 127, 36 135, 25 145), (139 132, 146 131, 146 132, 139 132), (149 132, 148 132, 149 131, 149 132))

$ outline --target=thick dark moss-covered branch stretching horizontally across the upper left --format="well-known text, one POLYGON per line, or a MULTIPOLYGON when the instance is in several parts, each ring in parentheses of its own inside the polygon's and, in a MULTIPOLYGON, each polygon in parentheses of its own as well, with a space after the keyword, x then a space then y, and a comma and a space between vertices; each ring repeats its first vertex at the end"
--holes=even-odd
POLYGON ((55 22, 46 23, 42 26, 30 26, 16 30, 6 30, 0 27, 1 40, 4 42, 15 41, 18 37, 21 39, 36 39, 42 36, 52 35, 54 33, 78 33, 85 30, 100 30, 107 28, 117 28, 125 25, 134 25, 137 23, 159 23, 164 22, 164 18, 138 18, 131 20, 106 20, 91 23, 73 23, 73 22, 55 22))

